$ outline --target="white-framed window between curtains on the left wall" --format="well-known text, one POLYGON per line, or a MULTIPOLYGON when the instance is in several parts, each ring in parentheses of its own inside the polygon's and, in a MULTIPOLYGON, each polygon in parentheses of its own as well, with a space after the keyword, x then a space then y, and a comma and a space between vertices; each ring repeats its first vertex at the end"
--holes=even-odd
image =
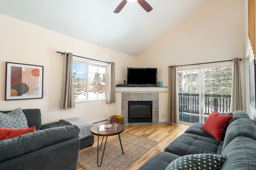
POLYGON ((73 62, 75 100, 106 98, 106 66, 73 62))

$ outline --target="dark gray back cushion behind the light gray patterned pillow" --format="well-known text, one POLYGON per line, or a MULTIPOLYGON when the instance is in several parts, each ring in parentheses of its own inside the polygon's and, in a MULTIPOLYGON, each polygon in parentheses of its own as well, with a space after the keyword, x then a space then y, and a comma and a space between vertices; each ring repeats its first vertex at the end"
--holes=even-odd
MULTIPOLYGON (((40 109, 22 109, 23 113, 27 118, 28 127, 35 126, 36 129, 41 129, 41 111, 40 109)), ((0 111, 2 113, 9 113, 11 111, 0 111)))

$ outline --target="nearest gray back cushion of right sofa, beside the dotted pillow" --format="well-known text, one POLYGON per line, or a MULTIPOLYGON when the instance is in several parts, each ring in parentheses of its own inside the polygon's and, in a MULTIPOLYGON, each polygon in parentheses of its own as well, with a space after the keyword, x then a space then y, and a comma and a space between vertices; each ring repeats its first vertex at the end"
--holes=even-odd
POLYGON ((256 169, 256 142, 246 137, 237 137, 229 143, 222 152, 226 155, 226 161, 221 170, 256 169))

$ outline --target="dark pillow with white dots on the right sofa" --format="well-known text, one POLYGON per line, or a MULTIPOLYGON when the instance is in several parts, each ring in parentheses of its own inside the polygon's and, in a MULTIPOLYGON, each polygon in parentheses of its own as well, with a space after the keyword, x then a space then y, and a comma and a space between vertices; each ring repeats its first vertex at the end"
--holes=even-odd
POLYGON ((214 170, 221 169, 224 164, 226 156, 215 154, 194 154, 185 155, 175 159, 171 162, 166 170, 170 169, 189 169, 189 170, 214 170))

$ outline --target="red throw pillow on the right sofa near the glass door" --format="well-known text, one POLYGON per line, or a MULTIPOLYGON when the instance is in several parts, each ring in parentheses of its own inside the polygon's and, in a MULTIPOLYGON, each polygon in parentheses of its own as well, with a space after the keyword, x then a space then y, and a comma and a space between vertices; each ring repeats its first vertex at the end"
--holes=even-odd
POLYGON ((207 131, 215 139, 220 141, 224 128, 232 117, 233 114, 223 115, 214 110, 212 113, 209 114, 201 129, 207 131))

